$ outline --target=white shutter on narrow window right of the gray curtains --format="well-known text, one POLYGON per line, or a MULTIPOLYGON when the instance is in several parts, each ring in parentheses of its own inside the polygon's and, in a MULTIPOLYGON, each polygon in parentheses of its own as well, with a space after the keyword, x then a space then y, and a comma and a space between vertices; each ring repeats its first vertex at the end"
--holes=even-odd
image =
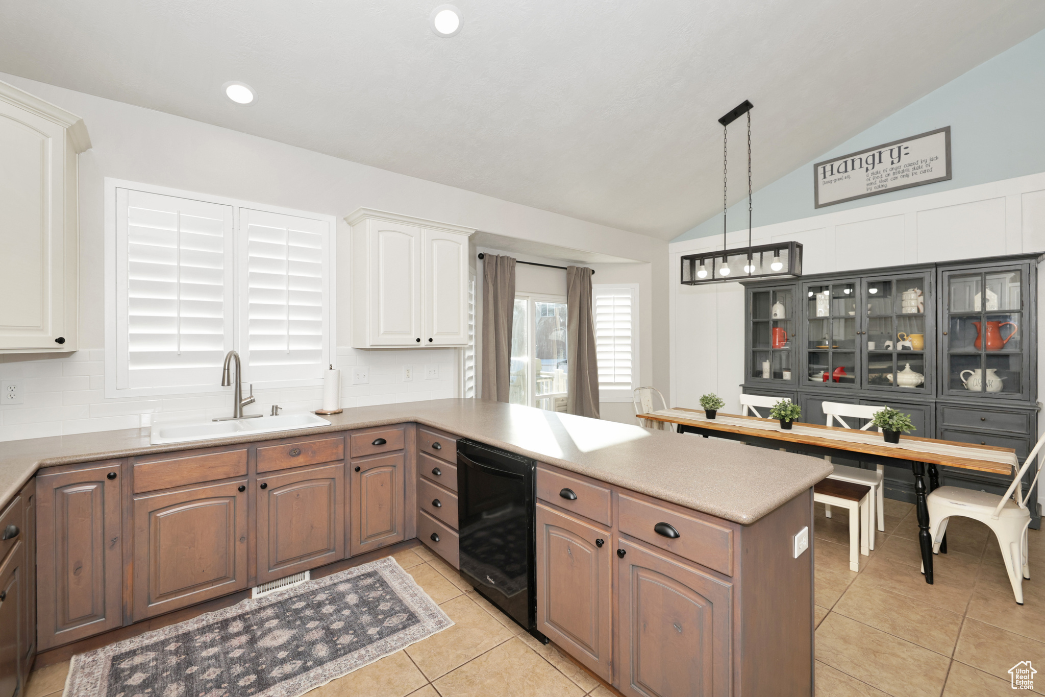
POLYGON ((595 345, 599 366, 599 392, 632 390, 632 298, 629 287, 596 285, 595 345))

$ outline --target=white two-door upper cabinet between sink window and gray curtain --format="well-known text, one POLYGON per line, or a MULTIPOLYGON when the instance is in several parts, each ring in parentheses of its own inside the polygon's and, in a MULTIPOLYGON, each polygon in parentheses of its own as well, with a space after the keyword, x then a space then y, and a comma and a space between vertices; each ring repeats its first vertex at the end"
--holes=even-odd
POLYGON ((474 231, 367 208, 345 222, 352 226, 352 346, 465 346, 474 231))

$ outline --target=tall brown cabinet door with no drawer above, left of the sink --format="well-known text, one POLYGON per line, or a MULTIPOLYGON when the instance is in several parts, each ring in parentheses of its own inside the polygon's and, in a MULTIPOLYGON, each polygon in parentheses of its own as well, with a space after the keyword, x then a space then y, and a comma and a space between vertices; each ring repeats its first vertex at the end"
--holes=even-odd
POLYGON ((123 623, 120 466, 37 478, 40 650, 123 623))

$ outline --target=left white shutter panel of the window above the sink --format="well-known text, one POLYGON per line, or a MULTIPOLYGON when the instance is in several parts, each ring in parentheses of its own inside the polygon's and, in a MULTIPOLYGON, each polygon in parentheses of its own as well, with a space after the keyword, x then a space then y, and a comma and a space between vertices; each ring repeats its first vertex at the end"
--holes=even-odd
POLYGON ((234 335, 232 220, 231 206, 116 189, 118 389, 220 382, 234 335))

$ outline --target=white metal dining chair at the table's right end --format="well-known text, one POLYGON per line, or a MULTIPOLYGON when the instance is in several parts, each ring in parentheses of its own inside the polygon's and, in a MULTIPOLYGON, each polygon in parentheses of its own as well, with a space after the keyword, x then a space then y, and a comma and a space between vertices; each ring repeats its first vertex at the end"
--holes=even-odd
POLYGON ((1027 487, 1026 495, 1023 495, 1023 475, 1038 460, 1038 451, 1041 450, 1043 443, 1045 435, 1038 439, 1035 449, 1030 450, 1030 455, 1023 461, 1023 466, 1016 472, 1004 495, 944 486, 937 487, 927 496, 929 534, 932 535, 933 553, 939 553, 939 544, 947 532, 947 521, 952 515, 979 520, 998 538, 1001 558, 1005 561, 1008 582, 1013 586, 1013 595, 1016 596, 1018 605, 1023 604, 1023 579, 1030 578, 1030 564, 1027 559, 1027 526, 1030 525, 1030 511, 1027 509, 1027 498, 1041 474, 1041 466, 1037 466, 1035 479, 1027 487))

